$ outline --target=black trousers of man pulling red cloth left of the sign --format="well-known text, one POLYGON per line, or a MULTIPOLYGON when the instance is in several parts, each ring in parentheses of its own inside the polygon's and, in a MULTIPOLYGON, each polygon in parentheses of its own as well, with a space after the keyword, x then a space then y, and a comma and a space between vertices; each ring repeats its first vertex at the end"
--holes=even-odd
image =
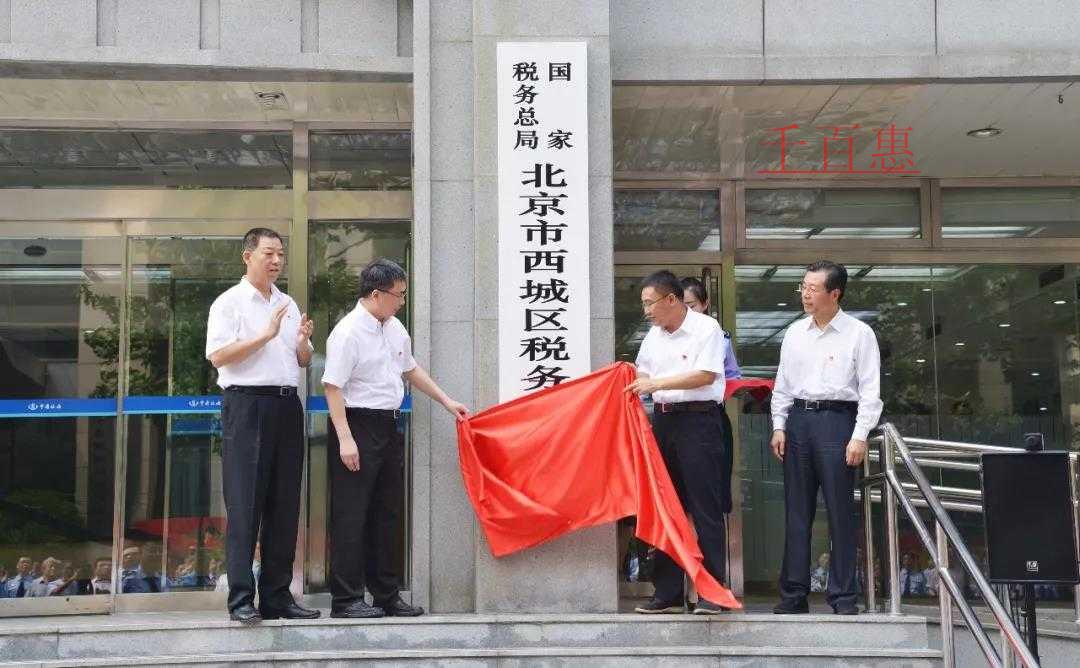
POLYGON ((346 408, 360 451, 360 471, 341 463, 337 431, 326 448, 330 469, 330 597, 334 610, 363 600, 397 597, 402 574, 395 559, 405 500, 405 441, 394 411, 346 408))

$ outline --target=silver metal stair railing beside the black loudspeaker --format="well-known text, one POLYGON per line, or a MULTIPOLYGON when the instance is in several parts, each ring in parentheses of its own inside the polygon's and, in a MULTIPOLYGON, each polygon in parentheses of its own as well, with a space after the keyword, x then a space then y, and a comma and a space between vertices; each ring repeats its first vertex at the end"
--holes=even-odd
MULTIPOLYGON (((944 468, 977 473, 981 465, 975 462, 959 461, 977 458, 987 452, 1023 452, 1023 448, 1003 448, 999 446, 983 446, 975 444, 934 440, 929 438, 904 438, 892 424, 881 425, 870 442, 878 446, 877 452, 872 452, 864 462, 864 476, 856 492, 863 503, 863 519, 865 522, 866 547, 866 605, 873 611, 877 608, 876 585, 874 577, 874 522, 873 504, 885 501, 886 512, 886 546, 889 559, 889 612, 901 614, 900 584, 900 534, 897 506, 904 509, 908 520, 915 528, 933 561, 937 575, 937 600, 941 610, 943 659, 946 668, 955 666, 955 645, 953 637, 953 610, 971 630, 976 644, 989 665, 998 667, 1012 666, 1018 659, 1024 666, 1035 668, 1038 662, 1024 642, 1020 630, 1013 624, 1004 605, 998 599, 986 576, 983 574, 974 557, 963 543, 960 532, 949 518, 948 510, 961 513, 983 512, 982 491, 958 487, 932 486, 922 468, 944 468), (870 473, 870 462, 880 464, 880 472, 870 473), (897 468, 907 474, 914 482, 901 479, 897 468), (878 490, 876 488, 880 487, 878 490), (945 501, 942 500, 945 499, 945 501), (929 508, 935 524, 931 533, 916 508, 929 508), (994 617, 1001 633, 1001 653, 995 647, 975 611, 964 597, 964 592, 949 571, 949 558, 956 555, 960 565, 968 573, 978 595, 994 617)), ((1077 453, 1069 456, 1071 489, 1074 503, 1080 499, 1077 475, 1080 473, 1077 453)), ((1078 517, 1074 513, 1074 519, 1078 517)), ((1080 522, 1077 522, 1080 532, 1080 522)), ((1076 588, 1076 616, 1080 624, 1080 586, 1076 588)))

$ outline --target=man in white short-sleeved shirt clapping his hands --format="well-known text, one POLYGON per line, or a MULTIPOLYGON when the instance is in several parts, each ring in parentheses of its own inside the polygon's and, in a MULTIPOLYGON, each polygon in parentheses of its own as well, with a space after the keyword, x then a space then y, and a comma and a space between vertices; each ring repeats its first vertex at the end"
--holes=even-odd
POLYGON ((312 323, 273 285, 285 267, 276 232, 249 230, 243 260, 244 277, 214 300, 206 323, 206 359, 225 390, 221 468, 229 616, 244 624, 310 619, 319 611, 298 605, 288 586, 303 469, 303 408, 296 387, 300 369, 311 364, 312 323), (262 545, 258 609, 252 576, 256 541, 262 545))

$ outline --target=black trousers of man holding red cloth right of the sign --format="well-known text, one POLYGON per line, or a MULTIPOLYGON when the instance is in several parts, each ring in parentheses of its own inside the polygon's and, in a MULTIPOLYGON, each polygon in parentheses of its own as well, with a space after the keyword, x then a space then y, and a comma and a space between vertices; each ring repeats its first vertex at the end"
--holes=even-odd
MULTIPOLYGON (((705 570, 720 583, 727 581, 724 513, 731 497, 723 414, 724 408, 718 404, 708 412, 654 412, 652 417, 652 433, 667 473, 698 531, 705 570)), ((657 550, 652 571, 657 599, 680 603, 685 597, 684 576, 683 569, 671 557, 657 550)))

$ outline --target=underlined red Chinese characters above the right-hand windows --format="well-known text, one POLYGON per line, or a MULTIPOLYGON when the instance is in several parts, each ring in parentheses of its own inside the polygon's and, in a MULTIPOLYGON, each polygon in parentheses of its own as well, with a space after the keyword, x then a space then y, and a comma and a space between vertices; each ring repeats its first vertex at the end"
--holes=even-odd
POLYGON ((874 133, 874 150, 870 152, 868 165, 856 165, 854 162, 855 134, 864 131, 862 125, 816 125, 800 131, 798 123, 783 127, 770 127, 775 138, 765 141, 767 146, 778 147, 780 151, 780 167, 778 169, 758 169, 758 174, 918 174, 915 168, 915 153, 912 152, 908 138, 910 127, 896 127, 890 124, 886 127, 866 128, 874 133), (821 163, 818 168, 798 169, 787 164, 793 148, 808 146, 811 136, 821 140, 821 163))

